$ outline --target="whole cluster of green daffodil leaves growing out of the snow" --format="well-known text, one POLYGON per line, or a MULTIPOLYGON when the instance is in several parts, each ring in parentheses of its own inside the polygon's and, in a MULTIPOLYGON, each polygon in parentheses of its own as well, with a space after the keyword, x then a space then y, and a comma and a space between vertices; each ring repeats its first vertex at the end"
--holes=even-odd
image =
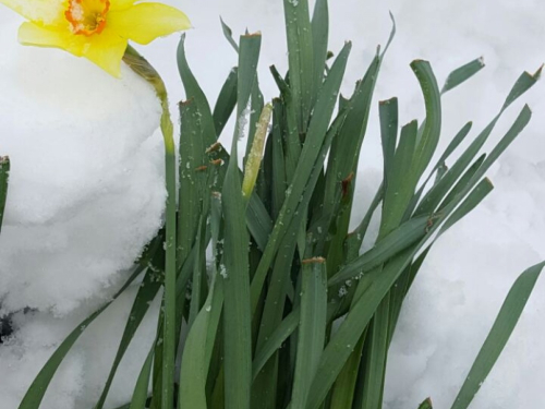
MULTIPOLYGON (((377 50, 352 96, 344 98, 339 89, 351 45, 331 61, 327 1, 317 0, 312 16, 306 0, 284 0, 284 11, 289 72, 282 75, 270 68, 279 88, 270 105, 256 70, 259 34, 235 41, 222 23, 239 63, 214 108, 190 69, 184 39, 180 44, 178 63, 187 100, 180 104, 175 322, 165 321, 159 312, 156 340, 143 357, 132 401, 123 408, 173 409, 166 404, 172 396, 165 399, 172 389, 178 408, 189 409, 382 408, 388 348, 414 277, 435 240, 492 191, 486 170, 530 121, 525 106, 492 152, 480 155, 504 111, 534 85, 540 72, 521 74, 497 116, 468 147, 460 149, 471 122, 433 163, 443 95, 483 63, 477 59, 455 70, 439 88, 431 64, 413 61, 425 118, 399 130, 397 98, 380 103, 384 179, 351 231, 360 152, 388 46, 377 50), (233 115, 228 152, 218 139, 233 115), (246 149, 239 154, 244 134, 246 149), (380 214, 378 237, 362 253, 375 213, 380 214), (170 378, 166 371, 173 368, 173 362, 164 362, 165 326, 173 326, 168 329, 175 334, 181 362, 174 385, 164 384, 170 378)), ((95 409, 104 407, 118 365, 165 285, 164 241, 160 232, 120 290, 143 275, 95 409)), ((507 296, 452 409, 470 405, 543 266, 523 273, 507 296)), ((107 306, 64 340, 21 409, 39 407, 62 359, 107 306)), ((432 401, 426 399, 421 408, 432 408, 432 401)))

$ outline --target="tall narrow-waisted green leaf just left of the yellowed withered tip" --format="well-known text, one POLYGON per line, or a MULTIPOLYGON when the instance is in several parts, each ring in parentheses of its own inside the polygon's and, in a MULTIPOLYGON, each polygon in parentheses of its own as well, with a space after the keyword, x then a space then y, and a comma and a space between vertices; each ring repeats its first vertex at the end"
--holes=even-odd
POLYGON ((250 310, 249 234, 245 202, 238 168, 237 142, 243 112, 256 79, 259 35, 242 36, 239 52, 239 92, 235 137, 223 182, 225 215, 225 390, 227 409, 250 408, 252 383, 252 328, 250 310))

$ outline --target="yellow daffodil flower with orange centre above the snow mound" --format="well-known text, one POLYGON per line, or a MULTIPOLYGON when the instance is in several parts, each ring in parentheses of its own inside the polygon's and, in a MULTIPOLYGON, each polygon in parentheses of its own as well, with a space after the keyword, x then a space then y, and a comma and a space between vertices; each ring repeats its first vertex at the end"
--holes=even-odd
POLYGON ((111 75, 121 74, 129 40, 146 45, 191 27, 172 7, 138 0, 0 0, 28 20, 19 40, 84 57, 111 75))

